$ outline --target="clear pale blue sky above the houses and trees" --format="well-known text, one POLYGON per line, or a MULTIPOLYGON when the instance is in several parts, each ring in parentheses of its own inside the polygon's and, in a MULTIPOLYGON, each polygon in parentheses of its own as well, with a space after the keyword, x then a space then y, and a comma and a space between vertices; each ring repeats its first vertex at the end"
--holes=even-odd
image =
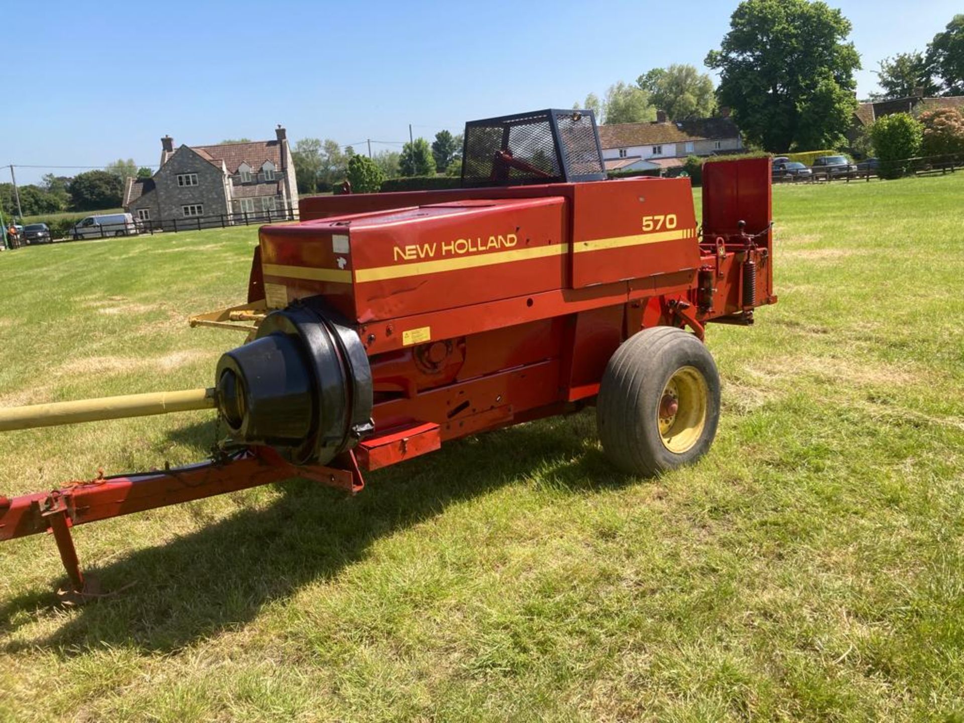
MULTIPOLYGON (((0 6, 0 164, 153 165, 160 137, 400 143, 549 106, 671 63, 703 70, 720 2, 18 2, 0 6)), ((924 49, 959 0, 830 0, 877 61, 924 49)), ((375 144, 373 149, 398 145, 375 144)), ((20 168, 19 183, 82 169, 20 168)), ((9 171, 0 169, 0 180, 9 171)))

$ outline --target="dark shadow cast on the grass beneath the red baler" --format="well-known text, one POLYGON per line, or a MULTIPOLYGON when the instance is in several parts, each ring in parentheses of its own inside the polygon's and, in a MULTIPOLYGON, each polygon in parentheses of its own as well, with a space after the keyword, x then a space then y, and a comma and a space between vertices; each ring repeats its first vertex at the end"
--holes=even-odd
MULTIPOLYGON (((212 435, 213 423, 201 423, 170 437, 196 444, 201 455, 212 435)), ((117 595, 80 607, 46 639, 29 646, 7 643, 3 650, 39 645, 73 656, 92 647, 133 645, 172 652, 248 623, 266 604, 308 583, 337 576, 364 559, 379 538, 441 515, 450 505, 536 477, 540 485, 572 494, 632 480, 613 469, 598 448, 592 410, 446 444, 434 454, 369 473, 356 496, 289 480, 281 483, 284 495, 265 508, 91 567, 90 575, 117 595)), ((12 632, 19 627, 13 621, 25 623, 31 611, 55 603, 49 592, 20 594, 0 607, 0 631, 12 632)))

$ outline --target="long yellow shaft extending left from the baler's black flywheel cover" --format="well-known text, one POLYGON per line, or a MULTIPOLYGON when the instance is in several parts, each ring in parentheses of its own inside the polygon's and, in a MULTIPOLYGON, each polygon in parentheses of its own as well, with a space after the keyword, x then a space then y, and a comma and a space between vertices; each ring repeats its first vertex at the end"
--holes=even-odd
POLYGON ((127 416, 168 415, 196 409, 214 409, 214 388, 184 391, 151 391, 147 394, 124 394, 76 402, 34 404, 27 407, 0 409, 0 432, 33 427, 55 427, 60 424, 121 419, 127 416))

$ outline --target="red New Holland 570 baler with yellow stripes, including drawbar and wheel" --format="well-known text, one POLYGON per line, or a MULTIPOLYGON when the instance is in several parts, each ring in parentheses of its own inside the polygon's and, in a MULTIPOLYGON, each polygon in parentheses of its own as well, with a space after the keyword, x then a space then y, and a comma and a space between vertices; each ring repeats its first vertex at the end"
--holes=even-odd
POLYGON ((776 301, 768 159, 706 164, 698 226, 688 178, 606 180, 592 113, 547 110, 469 122, 461 186, 306 199, 261 228, 247 303, 192 318, 250 330, 210 388, 0 410, 0 431, 205 408, 228 430, 198 465, 0 496, 0 540, 52 532, 83 598, 73 525, 294 476, 359 492, 586 405, 629 474, 703 455, 706 325, 776 301))

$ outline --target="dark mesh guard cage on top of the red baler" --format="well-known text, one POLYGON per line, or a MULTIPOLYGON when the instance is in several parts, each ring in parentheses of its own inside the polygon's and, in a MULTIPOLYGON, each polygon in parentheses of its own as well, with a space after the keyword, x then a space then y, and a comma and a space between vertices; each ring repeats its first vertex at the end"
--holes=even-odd
POLYGON ((592 111, 545 110, 466 123, 462 185, 603 180, 592 111))

